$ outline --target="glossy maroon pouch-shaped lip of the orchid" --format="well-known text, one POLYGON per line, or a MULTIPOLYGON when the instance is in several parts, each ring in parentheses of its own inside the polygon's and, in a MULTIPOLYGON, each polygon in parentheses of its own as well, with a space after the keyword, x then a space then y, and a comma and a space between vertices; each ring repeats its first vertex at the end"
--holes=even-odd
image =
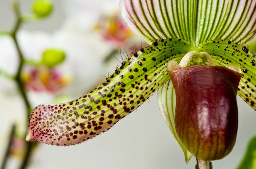
POLYGON ((222 66, 189 66, 168 72, 176 93, 175 129, 201 160, 228 155, 236 142, 236 94, 242 74, 222 66))

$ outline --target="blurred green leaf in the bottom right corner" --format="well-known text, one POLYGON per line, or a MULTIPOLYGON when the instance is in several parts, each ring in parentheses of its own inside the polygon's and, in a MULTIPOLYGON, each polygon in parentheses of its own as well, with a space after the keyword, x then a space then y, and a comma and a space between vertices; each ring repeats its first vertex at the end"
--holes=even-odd
POLYGON ((256 137, 250 140, 244 158, 236 169, 256 169, 256 137))

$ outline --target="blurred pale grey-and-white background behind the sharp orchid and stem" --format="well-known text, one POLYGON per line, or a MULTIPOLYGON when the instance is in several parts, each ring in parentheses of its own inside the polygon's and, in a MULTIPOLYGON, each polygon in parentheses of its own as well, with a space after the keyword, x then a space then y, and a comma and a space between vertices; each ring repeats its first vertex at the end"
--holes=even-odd
MULTIPOLYGON (((52 13, 38 20, 32 16, 33 0, 20 0, 24 23, 17 41, 28 60, 21 72, 32 108, 42 103, 62 103, 86 94, 102 83, 128 55, 147 46, 133 34, 119 14, 119 0, 54 0, 52 13), (39 64, 43 56, 57 53, 60 60, 39 64), (63 59, 64 58, 64 59, 63 59), (59 63, 58 63, 59 62, 59 63), (58 64, 57 64, 58 63, 58 64), (49 66, 50 64, 50 66, 49 66), (105 77, 106 76, 106 77, 105 77)), ((0 0, 0 30, 16 23, 12 0, 0 0)), ((255 51, 254 51, 255 52, 255 51)), ((19 169, 26 143, 26 108, 12 80, 19 66, 15 43, 0 34, 0 166, 6 156, 10 133, 16 125, 7 169, 19 169)), ((214 161, 215 169, 235 169, 247 144, 256 135, 256 112, 238 98, 239 129, 233 151, 214 161)), ((111 130, 76 146, 38 143, 28 169, 193 169, 166 125, 154 94, 111 130)))

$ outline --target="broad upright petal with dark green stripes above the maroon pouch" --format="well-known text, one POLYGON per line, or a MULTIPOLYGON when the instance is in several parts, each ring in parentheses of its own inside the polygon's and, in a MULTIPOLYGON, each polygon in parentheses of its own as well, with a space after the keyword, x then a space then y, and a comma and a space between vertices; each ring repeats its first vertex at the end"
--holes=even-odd
POLYGON ((244 43, 256 34, 256 0, 121 0, 121 14, 146 42, 179 37, 194 46, 216 39, 244 43))

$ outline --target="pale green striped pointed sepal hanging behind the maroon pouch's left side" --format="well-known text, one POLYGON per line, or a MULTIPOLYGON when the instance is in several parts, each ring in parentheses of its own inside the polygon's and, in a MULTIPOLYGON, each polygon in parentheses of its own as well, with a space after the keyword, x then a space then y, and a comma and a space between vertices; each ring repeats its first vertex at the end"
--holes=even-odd
POLYGON ((175 139, 180 144, 180 147, 184 152, 186 163, 189 163, 189 160, 192 157, 192 155, 183 146, 175 130, 176 97, 175 97, 175 90, 171 80, 168 80, 157 91, 157 99, 158 99, 158 106, 162 112, 163 118, 166 121, 166 124, 169 126, 170 130, 172 131, 172 134, 174 135, 175 139))

